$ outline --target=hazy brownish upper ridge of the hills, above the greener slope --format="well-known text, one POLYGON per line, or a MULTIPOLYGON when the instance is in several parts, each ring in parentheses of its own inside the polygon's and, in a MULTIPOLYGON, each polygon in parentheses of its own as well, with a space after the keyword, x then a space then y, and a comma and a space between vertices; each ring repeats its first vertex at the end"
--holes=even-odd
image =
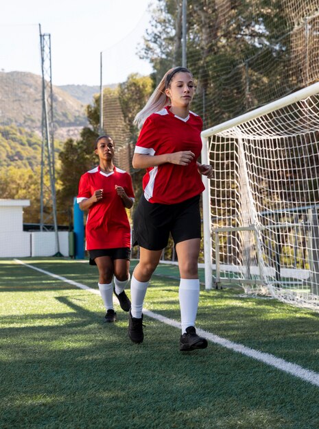
MULTIPOLYGON (((77 138, 87 125, 84 103, 53 86, 55 136, 77 138)), ((33 73, 0 72, 0 126, 16 125, 41 133, 42 77, 33 73)))

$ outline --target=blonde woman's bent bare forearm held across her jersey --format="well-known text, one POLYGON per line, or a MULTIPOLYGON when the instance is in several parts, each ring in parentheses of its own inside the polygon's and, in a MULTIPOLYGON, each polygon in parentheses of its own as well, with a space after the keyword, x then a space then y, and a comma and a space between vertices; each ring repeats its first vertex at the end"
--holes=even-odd
POLYGON ((163 155, 144 155, 134 153, 132 165, 134 169, 147 169, 148 167, 155 167, 156 165, 170 164, 188 165, 193 160, 195 154, 191 151, 174 152, 173 154, 163 155))

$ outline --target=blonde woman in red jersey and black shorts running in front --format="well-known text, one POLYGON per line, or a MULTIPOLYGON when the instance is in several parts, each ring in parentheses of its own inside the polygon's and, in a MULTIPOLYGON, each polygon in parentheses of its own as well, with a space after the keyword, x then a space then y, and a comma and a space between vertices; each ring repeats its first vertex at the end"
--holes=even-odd
POLYGON ((131 280, 132 306, 128 334, 143 341, 143 301, 152 273, 172 234, 180 270, 180 350, 207 347, 196 334, 200 295, 201 175, 212 177, 211 165, 197 161, 202 149, 202 119, 189 110, 193 75, 185 67, 167 71, 145 107, 135 117, 143 125, 134 150, 134 168, 146 169, 143 195, 134 212, 134 236, 140 260, 131 280))

